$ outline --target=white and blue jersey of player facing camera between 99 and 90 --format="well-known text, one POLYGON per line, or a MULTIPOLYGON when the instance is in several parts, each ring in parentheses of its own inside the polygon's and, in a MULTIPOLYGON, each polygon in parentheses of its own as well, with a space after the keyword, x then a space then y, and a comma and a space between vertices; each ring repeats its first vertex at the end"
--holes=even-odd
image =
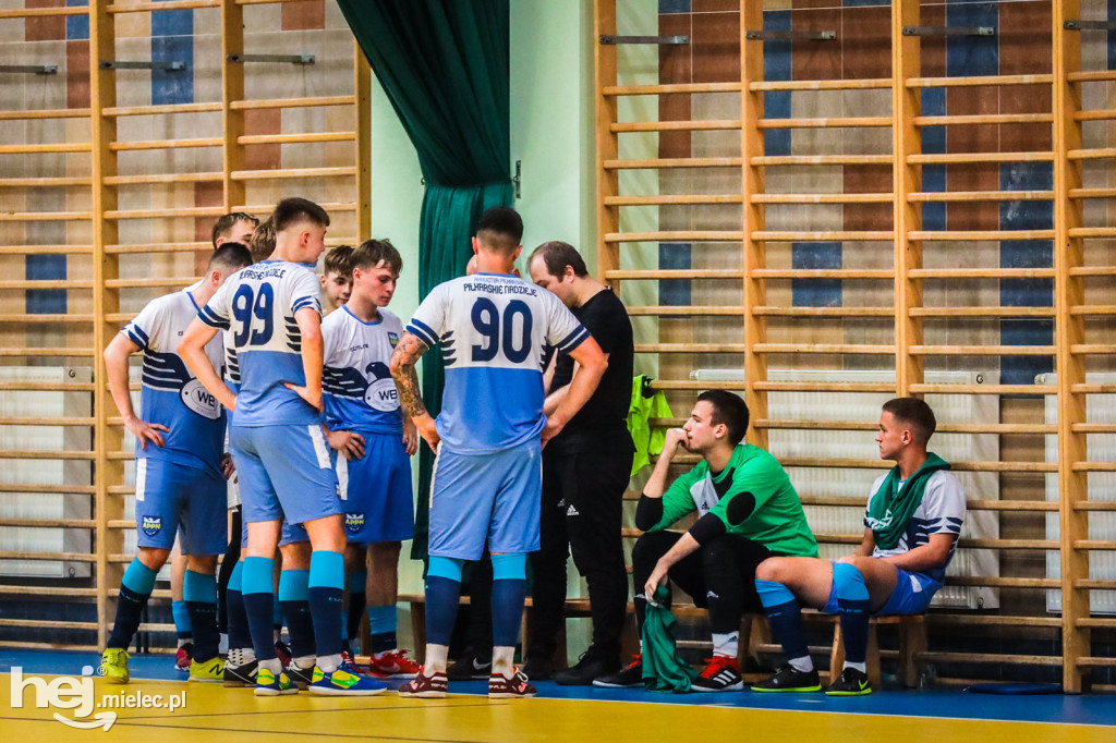
POLYGON ((340 307, 321 322, 321 389, 333 431, 403 434, 400 396, 387 367, 402 335, 400 318, 385 309, 378 321, 365 322, 340 307))

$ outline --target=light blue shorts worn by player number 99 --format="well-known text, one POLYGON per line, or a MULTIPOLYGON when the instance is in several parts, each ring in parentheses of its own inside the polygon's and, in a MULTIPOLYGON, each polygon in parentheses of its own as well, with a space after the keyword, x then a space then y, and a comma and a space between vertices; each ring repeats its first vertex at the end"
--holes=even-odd
POLYGON ((304 523, 341 512, 321 426, 233 426, 229 444, 244 523, 304 523))

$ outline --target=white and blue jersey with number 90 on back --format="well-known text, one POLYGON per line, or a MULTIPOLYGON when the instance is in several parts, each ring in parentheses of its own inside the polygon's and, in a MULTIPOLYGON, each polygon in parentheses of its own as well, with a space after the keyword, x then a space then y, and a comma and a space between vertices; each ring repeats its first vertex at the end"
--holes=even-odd
POLYGON ((475 273, 434 287, 407 324, 442 345, 445 392, 437 433, 445 450, 478 455, 538 437, 542 354, 577 348, 588 331, 555 295, 514 276, 475 273))

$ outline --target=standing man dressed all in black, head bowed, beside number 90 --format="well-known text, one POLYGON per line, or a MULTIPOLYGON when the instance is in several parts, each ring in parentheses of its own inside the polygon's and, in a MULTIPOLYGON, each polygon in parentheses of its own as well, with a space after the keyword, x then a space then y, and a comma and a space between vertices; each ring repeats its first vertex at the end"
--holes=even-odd
MULTIPOLYGON (((627 609, 627 571, 620 541, 624 490, 635 447, 627 431, 632 401, 632 322, 612 289, 589 277, 581 255, 565 242, 545 242, 530 259, 531 281, 558 296, 593 334, 608 369, 581 411, 542 450, 542 549, 531 554, 535 589, 531 636, 523 672, 551 676, 550 658, 565 621, 566 560, 573 553, 589 587, 593 644, 559 684, 591 684, 620 667, 620 630, 627 609), (567 551, 568 549, 568 551, 567 551)), ((558 406, 574 376, 559 354, 543 412, 558 406)))

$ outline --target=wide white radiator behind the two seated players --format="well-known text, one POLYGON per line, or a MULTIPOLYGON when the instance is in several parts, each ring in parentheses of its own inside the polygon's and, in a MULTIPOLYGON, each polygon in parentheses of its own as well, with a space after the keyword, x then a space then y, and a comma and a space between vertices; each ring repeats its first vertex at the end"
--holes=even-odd
MULTIPOLYGON (((740 382, 742 369, 696 369, 695 380, 740 382)), ((810 383, 883 383, 894 384, 892 370, 845 369, 769 369, 772 382, 810 383)), ((998 376, 975 372, 926 372, 929 384, 995 384, 998 376)), ((769 417, 795 421, 865 421, 879 419, 881 406, 894 397, 889 393, 768 393, 769 417)), ((999 423, 1000 405, 995 395, 926 395, 939 423, 999 423)), ((777 459, 835 457, 867 460, 876 456, 875 432, 868 431, 802 431, 770 430, 768 445, 777 459)), ((1000 459, 1000 438, 995 434, 939 433, 931 450, 947 461, 987 461, 1000 459)), ((836 467, 787 467, 795 489, 802 495, 857 495, 866 504, 873 481, 883 470, 836 467)), ((970 500, 998 500, 1000 476, 994 472, 954 472, 970 500)), ((864 505, 807 505, 810 529, 819 534, 860 534, 864 532, 864 505)), ((997 539, 1000 522, 993 511, 971 511, 962 535, 997 539)), ((821 544, 822 558, 847 554, 847 544, 821 544)), ((995 550, 959 549, 950 563, 950 575, 998 577, 1000 563, 995 550)), ((998 608, 999 589, 946 585, 934 596, 933 606, 961 608, 998 608)))

